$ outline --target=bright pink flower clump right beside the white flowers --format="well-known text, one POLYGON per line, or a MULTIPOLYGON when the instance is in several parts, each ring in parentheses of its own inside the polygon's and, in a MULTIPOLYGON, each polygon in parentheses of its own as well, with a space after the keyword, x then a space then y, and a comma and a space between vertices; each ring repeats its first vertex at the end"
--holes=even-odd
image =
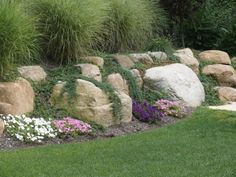
POLYGON ((62 120, 54 120, 53 124, 61 134, 80 135, 92 132, 91 125, 71 117, 66 117, 62 120))

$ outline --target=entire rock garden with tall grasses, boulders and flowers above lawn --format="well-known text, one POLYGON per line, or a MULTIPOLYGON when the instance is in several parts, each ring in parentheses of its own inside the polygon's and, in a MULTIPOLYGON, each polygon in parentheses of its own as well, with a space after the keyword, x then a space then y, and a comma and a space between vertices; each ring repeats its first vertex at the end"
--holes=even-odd
POLYGON ((0 149, 125 135, 236 102, 231 48, 173 47, 167 21, 144 0, 2 0, 0 149))

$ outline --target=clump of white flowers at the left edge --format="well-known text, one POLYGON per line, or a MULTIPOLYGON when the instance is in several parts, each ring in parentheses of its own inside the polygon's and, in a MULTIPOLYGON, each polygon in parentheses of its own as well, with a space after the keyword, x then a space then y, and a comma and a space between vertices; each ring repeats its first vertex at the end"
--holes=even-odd
POLYGON ((45 138, 55 138, 57 131, 53 128, 50 121, 43 118, 30 118, 25 115, 1 115, 6 125, 6 132, 23 142, 41 143, 45 138))

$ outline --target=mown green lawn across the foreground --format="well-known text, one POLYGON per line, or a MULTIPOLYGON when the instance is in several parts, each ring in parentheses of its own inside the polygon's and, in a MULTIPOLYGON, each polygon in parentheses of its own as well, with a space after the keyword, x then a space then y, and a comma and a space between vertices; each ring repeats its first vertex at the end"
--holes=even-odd
POLYGON ((236 113, 205 108, 162 129, 0 152, 0 177, 235 177, 236 113))

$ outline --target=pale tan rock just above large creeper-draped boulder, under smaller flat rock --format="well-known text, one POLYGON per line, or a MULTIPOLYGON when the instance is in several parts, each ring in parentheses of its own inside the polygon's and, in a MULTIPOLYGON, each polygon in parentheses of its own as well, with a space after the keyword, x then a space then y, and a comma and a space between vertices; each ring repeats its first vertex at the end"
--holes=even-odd
POLYGON ((81 68, 83 76, 95 79, 99 82, 102 81, 102 75, 98 66, 93 64, 78 64, 75 66, 81 68))

